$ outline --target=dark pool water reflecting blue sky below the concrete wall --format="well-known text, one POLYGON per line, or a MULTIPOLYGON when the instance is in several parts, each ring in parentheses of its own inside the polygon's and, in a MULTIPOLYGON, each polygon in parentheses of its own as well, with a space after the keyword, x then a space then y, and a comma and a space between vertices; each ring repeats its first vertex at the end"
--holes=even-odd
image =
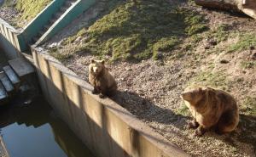
POLYGON ((93 157, 43 98, 0 108, 0 128, 11 157, 93 157))

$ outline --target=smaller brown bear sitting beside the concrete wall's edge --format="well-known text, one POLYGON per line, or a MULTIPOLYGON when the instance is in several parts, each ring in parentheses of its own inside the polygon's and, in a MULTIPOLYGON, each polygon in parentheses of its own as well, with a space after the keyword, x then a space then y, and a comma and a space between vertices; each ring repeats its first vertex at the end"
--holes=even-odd
POLYGON ((105 60, 90 59, 89 81, 94 87, 92 93, 100 93, 100 98, 112 96, 117 90, 117 83, 105 67, 105 60))

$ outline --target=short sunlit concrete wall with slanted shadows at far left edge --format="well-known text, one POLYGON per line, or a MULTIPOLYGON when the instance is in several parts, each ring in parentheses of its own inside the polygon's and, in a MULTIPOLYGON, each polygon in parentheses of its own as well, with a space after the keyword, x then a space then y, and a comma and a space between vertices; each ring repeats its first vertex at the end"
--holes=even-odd
POLYGON ((20 57, 19 31, 0 18, 0 45, 9 59, 20 57))

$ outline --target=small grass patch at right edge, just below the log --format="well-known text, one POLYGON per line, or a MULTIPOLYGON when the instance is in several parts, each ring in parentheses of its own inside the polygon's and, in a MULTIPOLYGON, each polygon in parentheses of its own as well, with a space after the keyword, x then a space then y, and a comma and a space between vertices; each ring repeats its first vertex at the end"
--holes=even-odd
POLYGON ((256 34, 255 33, 243 33, 240 34, 239 41, 230 45, 228 52, 236 52, 246 50, 250 47, 256 46, 256 34))

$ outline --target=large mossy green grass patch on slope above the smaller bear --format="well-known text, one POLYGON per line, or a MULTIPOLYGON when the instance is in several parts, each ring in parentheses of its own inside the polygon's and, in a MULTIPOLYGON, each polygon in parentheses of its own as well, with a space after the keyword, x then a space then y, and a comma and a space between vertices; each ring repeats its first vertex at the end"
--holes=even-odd
MULTIPOLYGON (((83 47, 96 56, 112 60, 158 59, 158 53, 171 54, 183 39, 207 30, 204 17, 166 0, 126 1, 75 36, 86 38, 83 47)), ((79 51, 77 51, 79 52, 79 51)))

